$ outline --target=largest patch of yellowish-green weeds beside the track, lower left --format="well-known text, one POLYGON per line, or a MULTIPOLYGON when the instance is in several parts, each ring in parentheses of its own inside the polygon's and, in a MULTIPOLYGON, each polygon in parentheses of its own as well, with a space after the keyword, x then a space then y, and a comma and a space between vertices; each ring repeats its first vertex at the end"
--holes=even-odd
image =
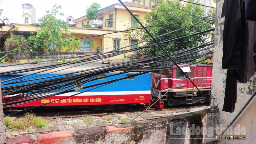
POLYGON ((13 128, 14 130, 25 130, 30 126, 34 127, 46 127, 49 121, 46 121, 40 117, 37 117, 34 113, 26 113, 22 119, 12 119, 10 116, 4 117, 4 125, 7 128, 13 128))

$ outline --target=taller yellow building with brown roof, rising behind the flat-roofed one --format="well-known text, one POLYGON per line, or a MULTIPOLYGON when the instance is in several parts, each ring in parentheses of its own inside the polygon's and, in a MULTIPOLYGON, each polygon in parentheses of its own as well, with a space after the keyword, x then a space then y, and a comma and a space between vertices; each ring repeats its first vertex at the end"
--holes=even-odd
MULTIPOLYGON (((151 13, 151 7, 134 4, 131 2, 124 2, 124 4, 141 21, 145 21, 144 16, 146 15, 146 13, 151 13)), ((138 23, 136 22, 136 20, 132 18, 130 13, 127 12, 124 6, 120 3, 112 4, 108 7, 98 10, 96 20, 103 21, 103 29, 108 30, 125 30, 128 27, 138 27, 138 23)), ((92 20, 88 20, 86 15, 74 20, 74 22, 76 23, 76 28, 86 28, 86 26, 89 26, 91 24, 91 21, 92 20)))

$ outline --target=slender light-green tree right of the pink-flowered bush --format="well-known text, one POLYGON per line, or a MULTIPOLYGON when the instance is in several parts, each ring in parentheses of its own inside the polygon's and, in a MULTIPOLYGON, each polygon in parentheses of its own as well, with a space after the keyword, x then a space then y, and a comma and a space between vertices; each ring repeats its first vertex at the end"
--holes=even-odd
MULTIPOLYGON (((56 16, 63 16, 64 13, 60 12, 61 6, 59 4, 53 5, 52 11, 46 11, 46 15, 40 18, 38 21, 41 22, 41 31, 38 31, 36 35, 31 32, 33 36, 28 39, 34 44, 33 46, 51 44, 55 42, 63 42, 54 44, 54 49, 63 49, 67 47, 69 50, 73 50, 80 46, 79 40, 68 41, 76 39, 75 36, 71 36, 68 32, 68 22, 57 19, 56 16), (65 42, 68 41, 68 42, 65 42)), ((43 46, 41 48, 49 48, 50 45, 43 46)), ((38 48, 39 49, 39 48, 38 48)))

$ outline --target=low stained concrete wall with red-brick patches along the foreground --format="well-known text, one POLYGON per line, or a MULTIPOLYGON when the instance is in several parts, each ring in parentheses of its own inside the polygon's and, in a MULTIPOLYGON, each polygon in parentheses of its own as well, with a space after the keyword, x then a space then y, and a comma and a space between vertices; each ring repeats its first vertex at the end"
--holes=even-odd
POLYGON ((202 138, 214 137, 218 117, 218 111, 209 108, 183 115, 126 124, 12 137, 7 143, 200 144, 209 140, 202 138))

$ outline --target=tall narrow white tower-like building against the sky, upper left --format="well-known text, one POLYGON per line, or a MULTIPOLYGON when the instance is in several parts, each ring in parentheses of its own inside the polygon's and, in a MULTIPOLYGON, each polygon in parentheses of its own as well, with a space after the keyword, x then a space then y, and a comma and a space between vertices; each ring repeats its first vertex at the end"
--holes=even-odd
POLYGON ((36 23, 36 8, 31 4, 22 4, 22 19, 25 24, 36 23))

